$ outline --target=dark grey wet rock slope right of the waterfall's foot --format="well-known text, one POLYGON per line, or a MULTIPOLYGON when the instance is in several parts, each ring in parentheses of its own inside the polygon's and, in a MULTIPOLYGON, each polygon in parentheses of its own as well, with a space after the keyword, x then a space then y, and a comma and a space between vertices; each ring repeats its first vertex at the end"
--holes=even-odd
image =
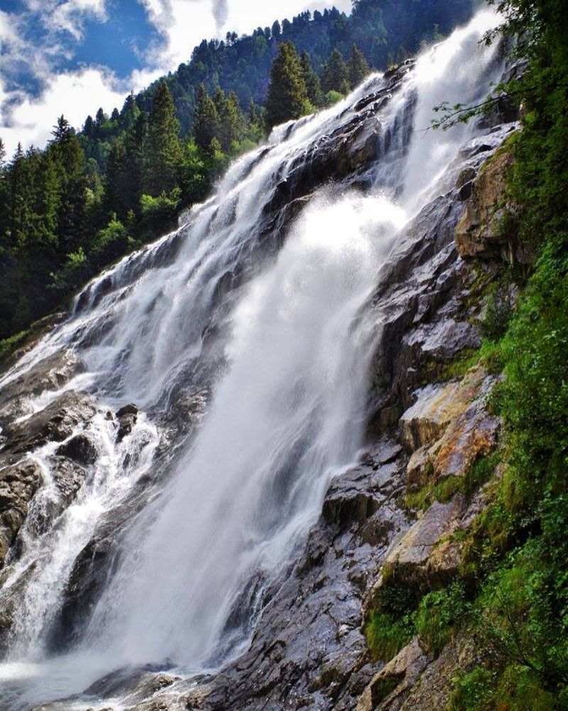
POLYGON ((300 562, 269 594, 251 647, 198 685, 190 708, 344 709, 371 679, 361 600, 383 553, 408 525, 401 449, 383 440, 330 486, 300 562))

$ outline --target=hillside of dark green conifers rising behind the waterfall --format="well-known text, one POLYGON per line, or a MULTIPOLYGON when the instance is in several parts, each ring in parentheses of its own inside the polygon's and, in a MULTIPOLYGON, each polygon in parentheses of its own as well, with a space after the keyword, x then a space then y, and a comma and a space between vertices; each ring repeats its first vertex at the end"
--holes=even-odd
POLYGON ((307 11, 251 36, 204 40, 110 116, 99 109, 80 131, 61 116, 44 151, 6 156, 0 143, 4 348, 102 267, 170 228, 274 124, 339 100, 369 68, 448 33, 471 5, 356 0, 349 16, 307 11))

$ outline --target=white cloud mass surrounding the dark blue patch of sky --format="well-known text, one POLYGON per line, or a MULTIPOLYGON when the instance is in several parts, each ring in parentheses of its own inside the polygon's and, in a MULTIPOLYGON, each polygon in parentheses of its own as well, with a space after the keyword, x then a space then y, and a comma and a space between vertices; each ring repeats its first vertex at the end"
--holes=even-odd
POLYGON ((81 127, 87 114, 94 114, 99 106, 107 112, 120 108, 129 91, 141 90, 187 62, 203 38, 222 37, 229 30, 251 33, 258 26, 271 26, 275 19, 292 18, 305 9, 335 4, 349 11, 351 7, 351 0, 137 1, 146 9, 161 41, 146 48, 144 68, 123 81, 101 67, 53 70, 55 61, 72 56, 72 42, 81 41, 85 21, 106 20, 111 12, 108 0, 26 0, 27 12, 39 18, 48 33, 40 47, 28 46, 23 40, 24 16, 0 10, 0 137, 9 154, 18 141, 25 147, 44 146, 62 113, 72 125, 81 127), (18 64, 25 65, 43 87, 37 97, 7 87, 6 75, 18 64))

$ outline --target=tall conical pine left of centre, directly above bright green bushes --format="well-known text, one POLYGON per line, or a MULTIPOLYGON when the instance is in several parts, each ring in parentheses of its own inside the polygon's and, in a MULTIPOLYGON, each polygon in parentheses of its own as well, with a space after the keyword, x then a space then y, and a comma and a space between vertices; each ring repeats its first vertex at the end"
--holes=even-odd
POLYGON ((175 116, 172 95, 160 81, 152 97, 143 165, 143 191, 157 197, 178 184, 182 163, 180 122, 175 116))

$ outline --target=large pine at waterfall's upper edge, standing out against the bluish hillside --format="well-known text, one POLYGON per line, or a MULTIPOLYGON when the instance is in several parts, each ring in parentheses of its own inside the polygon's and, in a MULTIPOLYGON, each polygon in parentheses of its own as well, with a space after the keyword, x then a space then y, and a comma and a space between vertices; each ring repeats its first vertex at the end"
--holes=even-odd
POLYGON ((271 70, 266 100, 268 127, 298 119, 307 108, 307 87, 300 58, 293 43, 283 42, 271 70))

